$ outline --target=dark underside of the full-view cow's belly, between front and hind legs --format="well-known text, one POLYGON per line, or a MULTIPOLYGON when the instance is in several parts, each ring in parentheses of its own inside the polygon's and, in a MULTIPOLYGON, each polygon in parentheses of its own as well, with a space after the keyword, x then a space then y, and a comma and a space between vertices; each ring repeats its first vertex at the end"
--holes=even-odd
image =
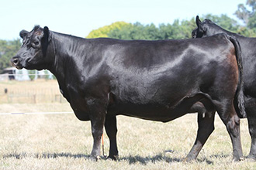
POLYGON ((192 97, 184 97, 176 104, 112 104, 109 105, 107 114, 121 114, 150 121, 167 122, 189 113, 192 105, 203 99, 205 96, 199 93, 192 97))

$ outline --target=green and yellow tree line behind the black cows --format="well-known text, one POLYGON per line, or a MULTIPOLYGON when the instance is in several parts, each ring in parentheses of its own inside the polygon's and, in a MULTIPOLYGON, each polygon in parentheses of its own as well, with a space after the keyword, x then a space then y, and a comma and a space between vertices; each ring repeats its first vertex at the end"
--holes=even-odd
MULTIPOLYGON (((211 19, 213 22, 231 32, 237 32, 242 36, 256 36, 256 0, 247 0, 246 4, 240 4, 234 15, 240 22, 231 19, 227 15, 202 15, 200 19, 211 19), (241 24, 243 22, 243 24, 241 24)), ((114 39, 190 39, 191 32, 195 29, 195 16, 190 20, 176 19, 172 24, 143 25, 140 22, 127 23, 115 22, 110 26, 92 30, 86 38, 109 37, 114 39)), ((9 60, 16 54, 21 46, 20 39, 6 41, 0 39, 0 73, 6 67, 11 66, 9 60)))

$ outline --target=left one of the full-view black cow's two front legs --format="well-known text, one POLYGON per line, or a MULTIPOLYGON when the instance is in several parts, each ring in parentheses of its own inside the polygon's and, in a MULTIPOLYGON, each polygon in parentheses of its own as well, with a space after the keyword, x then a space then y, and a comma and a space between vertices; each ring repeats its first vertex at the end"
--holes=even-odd
POLYGON ((99 155, 101 150, 101 139, 103 134, 105 115, 105 112, 99 110, 90 113, 93 137, 93 147, 90 158, 95 161, 97 161, 100 158, 99 155))

